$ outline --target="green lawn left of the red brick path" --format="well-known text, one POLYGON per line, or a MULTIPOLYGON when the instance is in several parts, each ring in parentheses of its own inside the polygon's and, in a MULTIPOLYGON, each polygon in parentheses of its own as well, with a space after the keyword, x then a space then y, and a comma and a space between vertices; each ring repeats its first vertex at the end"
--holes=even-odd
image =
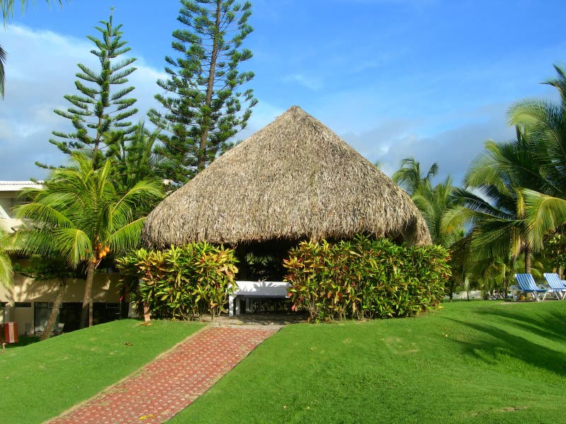
POLYGON ((0 421, 41 423, 57 416, 202 328, 184 322, 139 324, 123 319, 0 350, 0 421))

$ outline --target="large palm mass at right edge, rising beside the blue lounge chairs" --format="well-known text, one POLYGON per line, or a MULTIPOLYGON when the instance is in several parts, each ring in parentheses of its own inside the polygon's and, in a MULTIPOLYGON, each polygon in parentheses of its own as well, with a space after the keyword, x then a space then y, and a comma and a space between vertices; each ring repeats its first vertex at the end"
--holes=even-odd
POLYGON ((531 253, 566 223, 566 71, 555 70, 558 77, 545 83, 557 88, 560 103, 516 103, 509 111, 516 140, 486 144, 470 165, 467 189, 456 191, 461 206, 444 218, 470 219, 476 259, 509 264, 523 252, 531 272, 531 253))

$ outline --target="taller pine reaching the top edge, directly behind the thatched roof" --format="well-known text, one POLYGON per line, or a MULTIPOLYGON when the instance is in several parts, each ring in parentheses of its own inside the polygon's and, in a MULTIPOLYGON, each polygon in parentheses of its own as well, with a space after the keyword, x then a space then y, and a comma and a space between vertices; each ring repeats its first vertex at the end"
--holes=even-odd
POLYGON ((247 23, 251 4, 234 0, 182 0, 181 4, 178 20, 186 29, 173 31, 171 43, 179 57, 165 58, 169 78, 157 81, 169 94, 156 95, 164 112, 148 113, 162 130, 158 153, 166 158, 163 177, 175 184, 184 184, 226 151, 229 139, 246 127, 258 102, 252 89, 238 91, 254 76, 238 70, 252 57, 249 49, 241 47, 253 31, 247 23), (242 103, 247 104, 244 110, 242 103))

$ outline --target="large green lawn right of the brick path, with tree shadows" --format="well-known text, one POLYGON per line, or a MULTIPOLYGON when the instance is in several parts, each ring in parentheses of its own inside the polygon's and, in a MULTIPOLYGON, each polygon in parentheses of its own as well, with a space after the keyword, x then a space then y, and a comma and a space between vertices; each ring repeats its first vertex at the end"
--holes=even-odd
POLYGON ((172 423, 558 423, 566 301, 287 326, 172 423))

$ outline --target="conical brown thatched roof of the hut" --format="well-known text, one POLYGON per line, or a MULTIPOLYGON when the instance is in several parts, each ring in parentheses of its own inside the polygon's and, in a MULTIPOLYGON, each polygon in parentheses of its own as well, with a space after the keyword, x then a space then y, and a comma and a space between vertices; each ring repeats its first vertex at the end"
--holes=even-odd
POLYGON ((430 244, 410 196, 318 119, 293 106, 221 155, 146 219, 146 245, 342 239, 430 244))

